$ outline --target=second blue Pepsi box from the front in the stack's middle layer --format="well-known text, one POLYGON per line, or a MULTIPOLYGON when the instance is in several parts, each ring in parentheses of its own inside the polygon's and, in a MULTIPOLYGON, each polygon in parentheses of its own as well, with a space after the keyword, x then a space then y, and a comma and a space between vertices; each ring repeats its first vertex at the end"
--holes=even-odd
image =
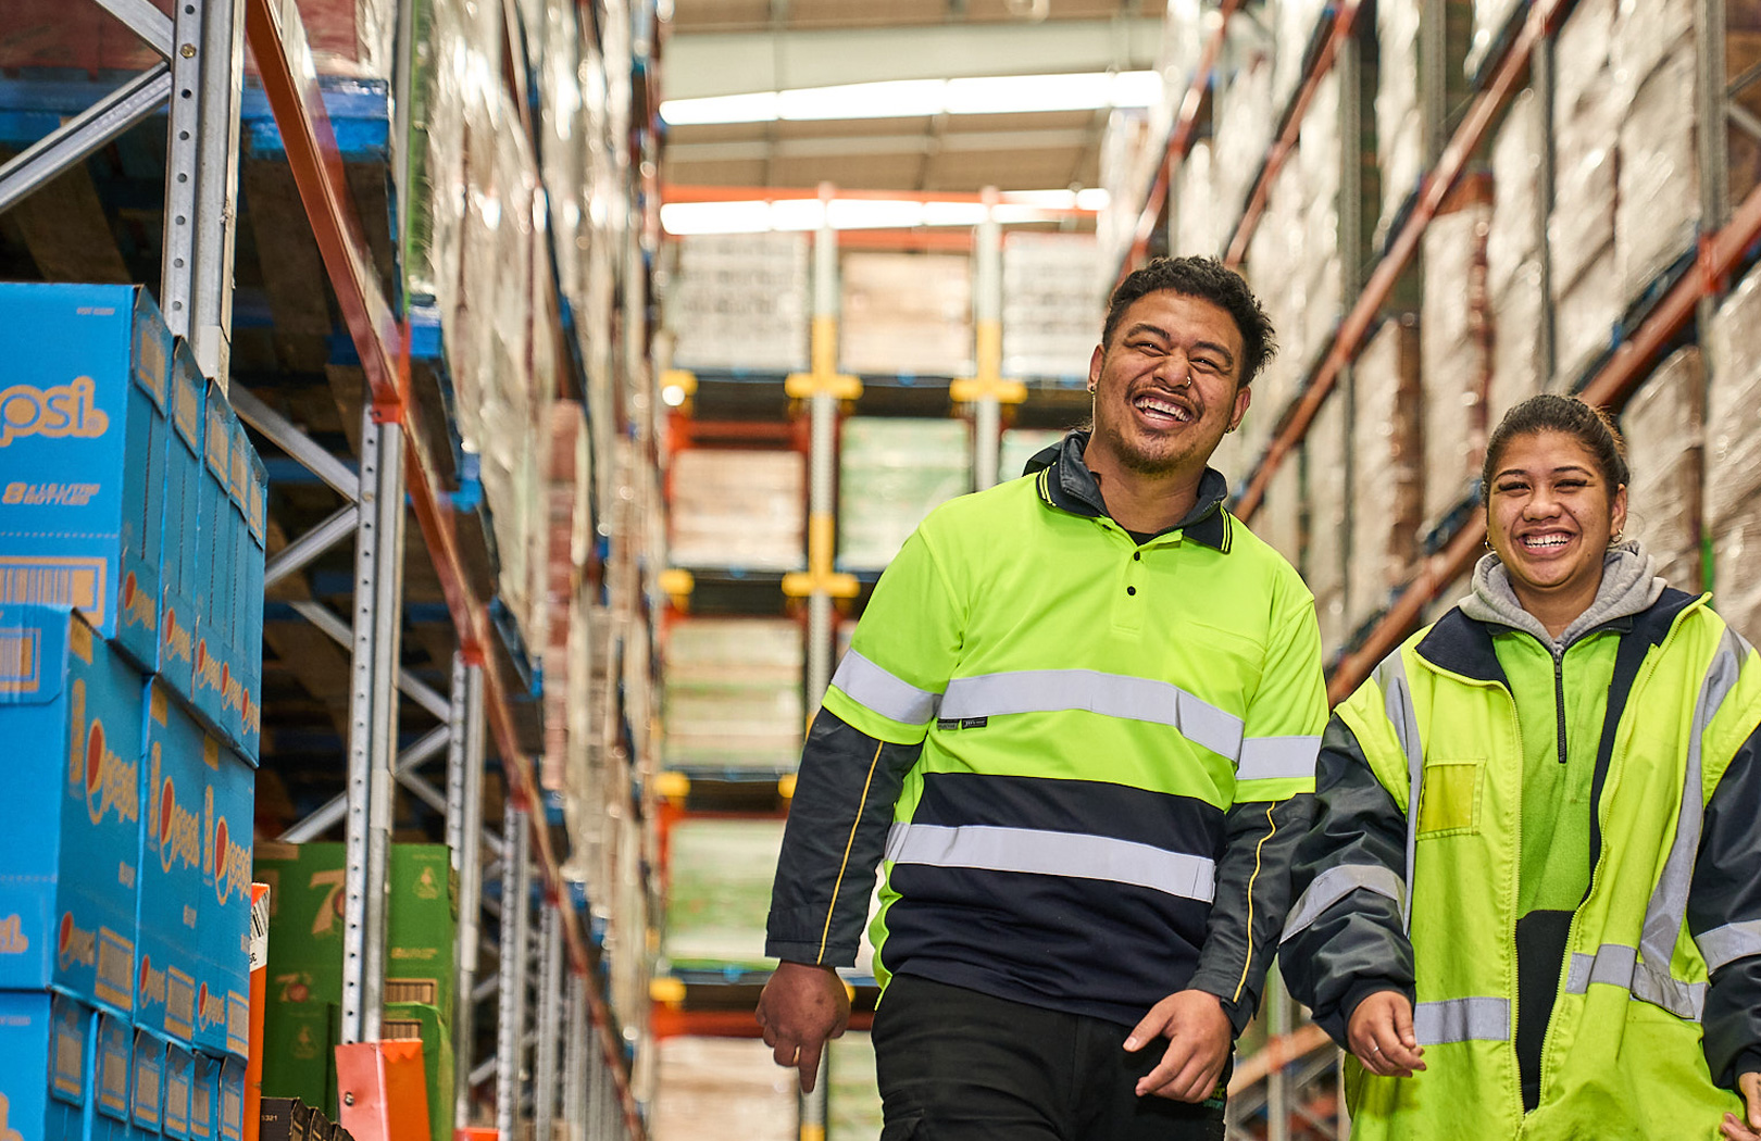
POLYGON ((146 683, 141 784, 141 960, 134 1021, 192 1046, 201 961, 204 747, 213 741, 158 680, 146 683))

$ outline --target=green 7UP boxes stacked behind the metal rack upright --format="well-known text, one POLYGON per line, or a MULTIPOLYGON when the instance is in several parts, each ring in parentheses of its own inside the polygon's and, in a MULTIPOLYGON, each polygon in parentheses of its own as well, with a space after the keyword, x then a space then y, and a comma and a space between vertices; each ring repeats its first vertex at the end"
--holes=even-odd
MULTIPOLYGON (((269 886, 264 1097, 291 1097, 336 1118, 343 990, 342 843, 259 843, 269 886)), ((446 845, 391 845, 382 1035, 419 1039, 435 1141, 451 1136, 458 884, 446 845)))

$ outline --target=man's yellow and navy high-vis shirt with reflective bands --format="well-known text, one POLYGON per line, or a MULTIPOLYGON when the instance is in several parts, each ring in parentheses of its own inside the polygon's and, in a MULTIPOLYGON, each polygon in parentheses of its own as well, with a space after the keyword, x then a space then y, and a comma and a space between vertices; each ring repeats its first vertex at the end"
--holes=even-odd
POLYGON ((1314 600, 1222 507, 1138 542, 1083 433, 944 504, 875 586, 801 759, 768 953, 1132 1025, 1245 1025, 1326 724, 1314 600), (1050 463, 1050 465, 1048 465, 1050 463))

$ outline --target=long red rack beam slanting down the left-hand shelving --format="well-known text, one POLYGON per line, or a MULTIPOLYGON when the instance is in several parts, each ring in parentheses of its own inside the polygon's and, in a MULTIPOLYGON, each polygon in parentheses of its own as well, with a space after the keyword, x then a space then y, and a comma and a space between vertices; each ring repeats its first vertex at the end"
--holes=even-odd
MULTIPOLYGON (((458 535, 453 525, 453 511, 435 490, 428 442, 421 437, 419 417, 410 416, 409 407, 409 331, 393 315, 379 292, 372 271, 372 257, 366 254, 366 241, 361 236, 359 222, 354 217, 354 204, 349 197, 347 181, 342 171, 342 157, 336 150, 336 137, 324 111, 310 51, 306 49, 305 28, 299 23, 299 11, 292 0, 247 0, 245 33, 262 76, 264 95, 275 114, 275 125, 287 148, 287 162, 299 188, 299 201, 306 210, 306 218, 324 257, 324 269, 336 292, 338 306, 343 312, 349 336, 361 357, 366 373, 368 391, 375 416, 382 423, 400 424, 405 431, 405 475, 410 504, 423 530, 433 558, 435 574, 440 579, 447 600, 447 611, 458 627, 460 650, 465 659, 483 666, 484 674, 484 710, 490 715, 490 729, 495 734, 502 761, 514 778, 514 796, 535 810, 534 842, 539 852, 544 879, 555 896, 562 882, 558 875, 556 854, 549 845, 548 829, 539 826, 542 812, 537 780, 532 773, 530 757, 518 748, 512 715, 507 710, 507 681, 500 676, 493 657, 484 653, 490 644, 488 613, 465 588, 463 562, 458 551, 458 535)), ((586 939, 579 923, 565 923, 564 933, 569 942, 569 958, 574 970, 590 975, 592 961, 586 939)), ((586 988, 590 1016, 595 1032, 606 1049, 606 1056, 622 1056, 623 1042, 611 1032, 611 1018, 602 997, 586 988)), ((636 1099, 629 1088, 627 1076, 613 1067, 613 1081, 618 1086, 623 1104, 623 1118, 630 1134, 643 1136, 641 1118, 636 1111, 636 1099)))

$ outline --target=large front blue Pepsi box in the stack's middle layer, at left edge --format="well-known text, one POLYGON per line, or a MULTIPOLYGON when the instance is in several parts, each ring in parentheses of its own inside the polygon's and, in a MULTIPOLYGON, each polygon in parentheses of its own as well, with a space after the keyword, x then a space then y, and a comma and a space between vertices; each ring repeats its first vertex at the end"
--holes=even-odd
POLYGON ((134 1007, 141 674, 74 613, 0 606, 0 740, 14 810, 0 990, 134 1007))

